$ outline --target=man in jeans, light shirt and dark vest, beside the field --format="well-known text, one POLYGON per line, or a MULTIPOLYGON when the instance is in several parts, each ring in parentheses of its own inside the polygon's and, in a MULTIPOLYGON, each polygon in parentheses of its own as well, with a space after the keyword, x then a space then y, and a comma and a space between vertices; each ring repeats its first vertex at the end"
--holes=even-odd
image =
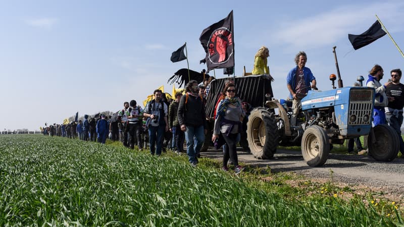
POLYGON ((164 133, 168 131, 168 107, 162 100, 161 90, 157 89, 153 93, 155 98, 146 104, 143 116, 150 118, 150 124, 148 125, 150 154, 154 155, 156 151, 156 154, 160 156, 164 133))

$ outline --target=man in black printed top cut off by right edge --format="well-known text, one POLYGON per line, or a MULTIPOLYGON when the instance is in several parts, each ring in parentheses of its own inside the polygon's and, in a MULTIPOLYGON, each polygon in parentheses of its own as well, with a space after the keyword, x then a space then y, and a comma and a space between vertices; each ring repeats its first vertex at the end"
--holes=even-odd
POLYGON ((394 69, 390 72, 391 84, 386 86, 388 105, 384 108, 388 124, 398 134, 400 140, 401 157, 404 156, 404 141, 401 137, 402 108, 404 107, 404 84, 400 83, 401 70, 394 69))

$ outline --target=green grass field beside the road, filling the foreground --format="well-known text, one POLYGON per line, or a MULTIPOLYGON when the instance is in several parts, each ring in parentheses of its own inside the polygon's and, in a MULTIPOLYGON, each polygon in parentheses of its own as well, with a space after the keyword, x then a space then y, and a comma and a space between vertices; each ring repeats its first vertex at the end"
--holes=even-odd
MULTIPOLYGON (((192 168, 113 143, 0 136, 0 225, 395 226, 394 204, 264 183, 212 160, 192 168)), ((327 190, 325 190, 327 191, 327 190)))

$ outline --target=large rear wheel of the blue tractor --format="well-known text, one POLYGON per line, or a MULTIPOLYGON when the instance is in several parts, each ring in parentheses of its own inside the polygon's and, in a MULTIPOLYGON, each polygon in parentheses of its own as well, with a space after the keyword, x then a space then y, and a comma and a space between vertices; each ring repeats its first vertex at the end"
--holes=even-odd
POLYGON ((272 158, 278 147, 278 126, 273 113, 264 107, 251 111, 247 122, 249 149, 258 159, 272 158))

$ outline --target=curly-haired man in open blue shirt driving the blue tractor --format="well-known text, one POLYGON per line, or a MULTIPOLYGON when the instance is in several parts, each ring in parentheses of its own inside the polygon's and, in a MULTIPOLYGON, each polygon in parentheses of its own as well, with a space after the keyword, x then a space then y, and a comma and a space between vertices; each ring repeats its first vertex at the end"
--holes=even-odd
POLYGON ((290 118, 290 125, 296 126, 296 119, 301 108, 300 100, 306 96, 311 88, 316 88, 316 78, 313 76, 312 71, 305 67, 307 62, 307 55, 304 51, 296 54, 294 61, 296 67, 291 69, 286 77, 286 86, 289 90, 289 100, 293 100, 292 104, 292 117, 290 118), (310 85, 310 82, 312 85, 310 85))

